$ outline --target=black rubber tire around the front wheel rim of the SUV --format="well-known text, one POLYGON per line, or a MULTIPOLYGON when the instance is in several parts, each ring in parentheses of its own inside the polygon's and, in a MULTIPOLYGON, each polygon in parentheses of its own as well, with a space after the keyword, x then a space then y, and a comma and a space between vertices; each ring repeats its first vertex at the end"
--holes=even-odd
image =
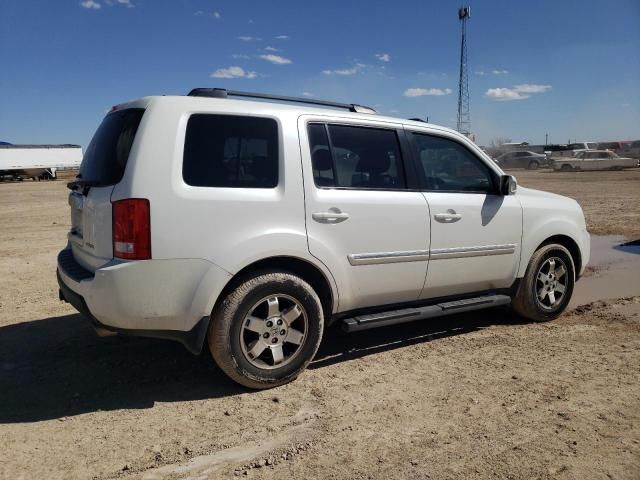
MULTIPOLYGON (((560 262, 559 262, 560 263, 560 262)), ((547 322, 560 316, 567 308, 575 286, 575 264, 571 253, 562 245, 550 243, 540 247, 531 257, 527 271, 518 285, 518 290, 512 298, 512 306, 515 312, 534 322, 547 322), (545 284, 538 280, 540 269, 545 262, 551 259, 559 259, 566 266, 566 285, 557 305, 547 306, 539 299, 538 292, 545 284)), ((555 293, 555 292, 554 292, 555 293)))

